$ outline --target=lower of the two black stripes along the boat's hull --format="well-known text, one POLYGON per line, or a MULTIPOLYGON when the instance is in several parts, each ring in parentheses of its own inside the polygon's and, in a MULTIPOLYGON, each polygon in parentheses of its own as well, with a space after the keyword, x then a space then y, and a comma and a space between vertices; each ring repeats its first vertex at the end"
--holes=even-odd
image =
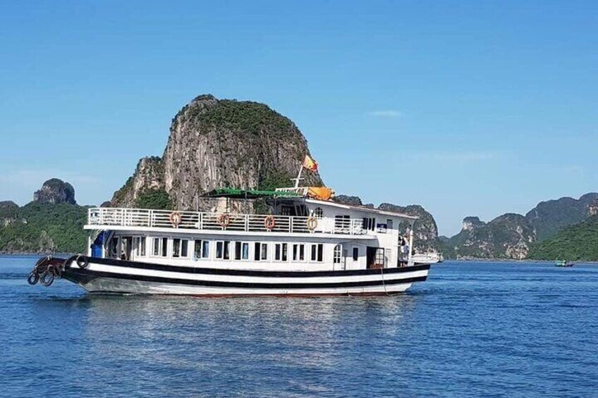
POLYGON ((393 280, 360 280, 356 282, 322 282, 322 283, 255 283, 255 282, 226 282, 220 280, 188 280, 180 278, 164 278, 161 276, 130 275, 122 273, 99 272, 93 270, 68 269, 64 277, 75 283, 85 283, 95 278, 114 278, 142 282, 169 283, 171 285, 206 286, 206 287, 237 287, 243 289, 326 289, 334 287, 366 287, 380 285, 399 285, 403 283, 423 282, 427 276, 403 278, 393 280))

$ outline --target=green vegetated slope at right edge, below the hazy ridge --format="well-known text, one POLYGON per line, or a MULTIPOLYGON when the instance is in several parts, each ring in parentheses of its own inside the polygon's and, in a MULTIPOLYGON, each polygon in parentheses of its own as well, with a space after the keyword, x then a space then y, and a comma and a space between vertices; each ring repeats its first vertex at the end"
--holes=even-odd
POLYGON ((598 215, 532 245, 530 259, 598 261, 598 215))

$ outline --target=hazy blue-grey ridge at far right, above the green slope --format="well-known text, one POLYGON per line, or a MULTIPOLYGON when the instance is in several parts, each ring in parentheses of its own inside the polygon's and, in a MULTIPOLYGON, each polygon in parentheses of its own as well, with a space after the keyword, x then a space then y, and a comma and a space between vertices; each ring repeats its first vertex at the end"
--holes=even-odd
POLYGON ((537 240, 542 241, 556 235, 559 230, 580 223, 592 215, 598 193, 590 192, 580 199, 562 197, 542 201, 525 215, 536 231, 537 240))

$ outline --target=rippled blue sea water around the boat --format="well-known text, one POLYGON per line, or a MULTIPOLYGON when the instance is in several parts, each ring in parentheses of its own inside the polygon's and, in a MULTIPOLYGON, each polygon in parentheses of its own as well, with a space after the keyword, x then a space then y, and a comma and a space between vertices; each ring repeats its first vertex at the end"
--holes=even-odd
POLYGON ((434 266, 400 297, 88 297, 0 256, 5 396, 598 397, 598 266, 434 266))

